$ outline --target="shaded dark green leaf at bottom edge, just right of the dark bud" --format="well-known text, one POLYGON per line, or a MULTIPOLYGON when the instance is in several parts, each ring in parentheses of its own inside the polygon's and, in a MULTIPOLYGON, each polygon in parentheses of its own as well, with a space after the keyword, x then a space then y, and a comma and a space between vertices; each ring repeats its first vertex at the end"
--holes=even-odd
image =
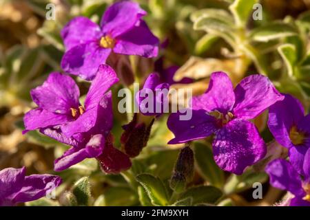
POLYGON ((222 195, 223 192, 214 186, 196 186, 182 193, 179 200, 191 197, 193 205, 198 203, 214 204, 222 195))

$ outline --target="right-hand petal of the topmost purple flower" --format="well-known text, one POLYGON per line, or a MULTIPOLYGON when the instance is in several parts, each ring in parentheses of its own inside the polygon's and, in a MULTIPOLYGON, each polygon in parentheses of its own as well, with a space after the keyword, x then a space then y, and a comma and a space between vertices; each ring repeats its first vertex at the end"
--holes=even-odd
POLYGON ((158 43, 158 38, 152 34, 146 23, 141 21, 138 26, 118 36, 113 51, 116 54, 151 58, 158 54, 158 43))

